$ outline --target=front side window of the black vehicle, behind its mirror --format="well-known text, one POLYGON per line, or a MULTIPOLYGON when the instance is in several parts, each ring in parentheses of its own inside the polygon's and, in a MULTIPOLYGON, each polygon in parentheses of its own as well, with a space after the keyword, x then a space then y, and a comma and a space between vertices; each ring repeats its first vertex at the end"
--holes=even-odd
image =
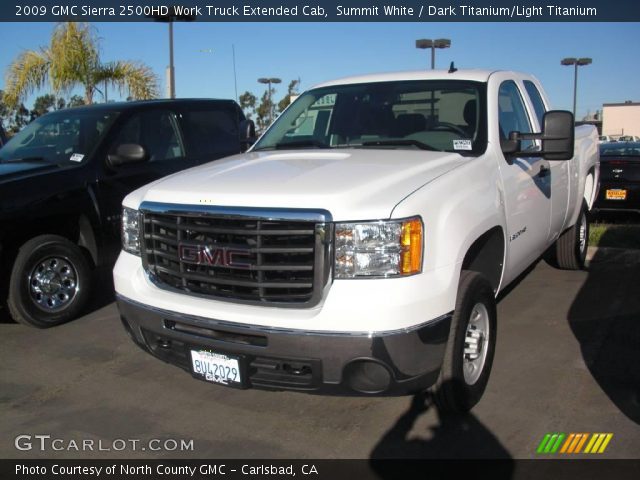
POLYGON ((122 126, 110 153, 115 153, 118 146, 124 143, 142 145, 150 162, 164 162, 185 156, 175 114, 168 110, 134 113, 122 126))

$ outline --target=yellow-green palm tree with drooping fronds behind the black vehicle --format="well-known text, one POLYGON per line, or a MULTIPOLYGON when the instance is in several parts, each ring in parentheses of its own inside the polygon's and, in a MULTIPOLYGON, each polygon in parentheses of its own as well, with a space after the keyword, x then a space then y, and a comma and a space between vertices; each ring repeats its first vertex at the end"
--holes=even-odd
POLYGON ((98 86, 111 84, 134 99, 158 96, 158 79, 140 62, 100 62, 98 38, 86 23, 66 22, 56 26, 48 47, 25 50, 9 65, 3 100, 17 105, 49 81, 54 94, 84 87, 86 104, 93 103, 98 86))

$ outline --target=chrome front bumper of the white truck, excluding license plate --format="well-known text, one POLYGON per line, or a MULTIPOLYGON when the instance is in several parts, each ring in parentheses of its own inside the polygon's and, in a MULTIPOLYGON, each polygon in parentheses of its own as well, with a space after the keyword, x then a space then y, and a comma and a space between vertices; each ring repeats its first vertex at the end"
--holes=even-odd
POLYGON ((248 326, 168 312, 117 298, 132 339, 191 371, 191 349, 241 358, 244 387, 338 395, 404 395, 438 378, 451 314, 377 334, 248 326))

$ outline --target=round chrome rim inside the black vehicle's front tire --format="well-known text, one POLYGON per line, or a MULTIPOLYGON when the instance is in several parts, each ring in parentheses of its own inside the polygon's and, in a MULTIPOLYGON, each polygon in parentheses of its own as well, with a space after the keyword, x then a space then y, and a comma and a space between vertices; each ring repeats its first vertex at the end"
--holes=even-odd
POLYGON ((78 274, 64 258, 47 258, 38 263, 29 275, 31 300, 48 312, 66 308, 79 289, 78 274))

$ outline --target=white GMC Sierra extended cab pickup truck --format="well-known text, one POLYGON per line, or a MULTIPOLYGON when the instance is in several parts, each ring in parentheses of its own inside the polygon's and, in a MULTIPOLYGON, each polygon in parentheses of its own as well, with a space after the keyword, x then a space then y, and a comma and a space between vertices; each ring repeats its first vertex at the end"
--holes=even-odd
POLYGON ((247 153, 126 197, 121 318, 212 383, 431 387, 466 411, 489 378, 496 295, 545 253, 583 266, 598 165, 595 129, 550 111, 530 75, 324 83, 247 153))

